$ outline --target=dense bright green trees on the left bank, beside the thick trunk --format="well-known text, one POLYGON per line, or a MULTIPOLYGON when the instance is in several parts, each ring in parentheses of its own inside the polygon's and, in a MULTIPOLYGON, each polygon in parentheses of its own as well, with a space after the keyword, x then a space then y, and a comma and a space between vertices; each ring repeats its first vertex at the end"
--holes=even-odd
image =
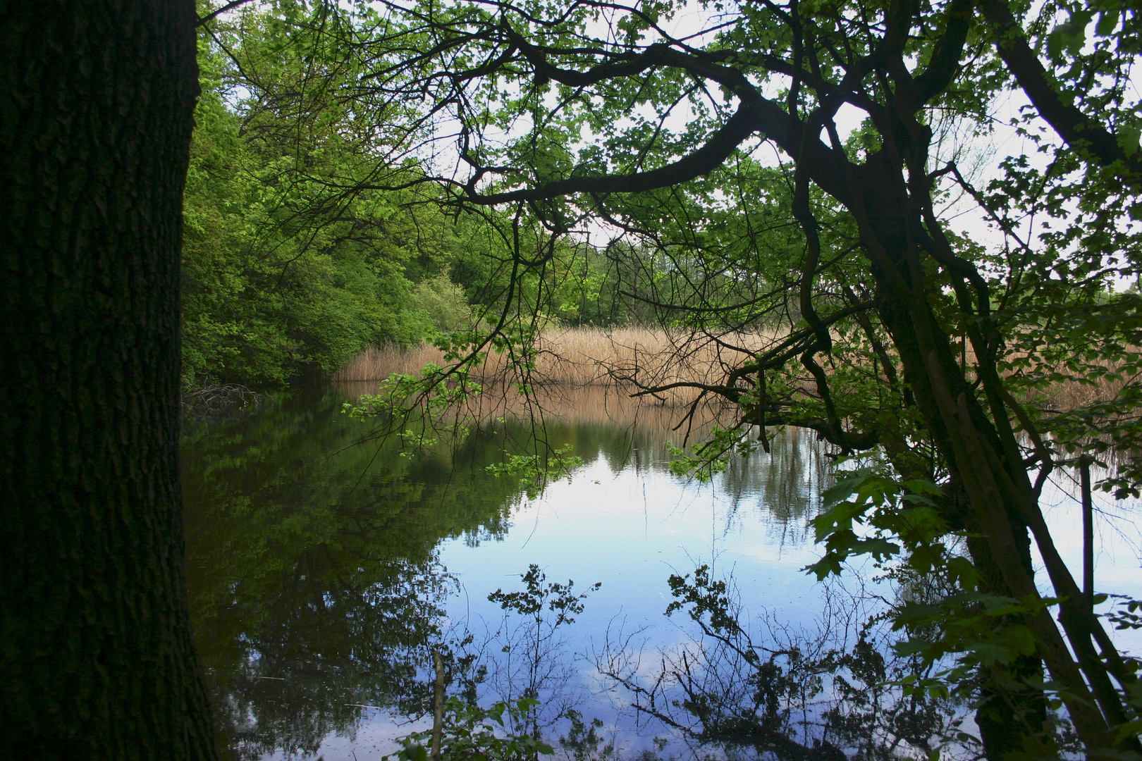
POLYGON ((273 104, 243 92, 216 46, 203 41, 201 52, 185 197, 184 387, 329 372, 367 343, 417 341, 461 319, 466 301, 447 272, 473 245, 471 227, 431 205, 405 207, 411 196, 343 199, 324 180, 352 172, 354 136, 336 124, 290 130, 273 104))

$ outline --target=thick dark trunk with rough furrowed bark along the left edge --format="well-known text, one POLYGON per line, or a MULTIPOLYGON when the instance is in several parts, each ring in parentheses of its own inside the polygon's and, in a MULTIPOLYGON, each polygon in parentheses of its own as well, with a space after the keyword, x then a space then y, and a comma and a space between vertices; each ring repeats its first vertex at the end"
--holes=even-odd
POLYGON ((194 3, 0 21, 0 747, 216 758, 177 468, 194 3))

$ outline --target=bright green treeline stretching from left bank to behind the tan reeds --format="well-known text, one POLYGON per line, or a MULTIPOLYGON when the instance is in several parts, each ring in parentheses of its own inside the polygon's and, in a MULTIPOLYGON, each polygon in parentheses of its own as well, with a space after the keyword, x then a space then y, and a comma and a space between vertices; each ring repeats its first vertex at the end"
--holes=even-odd
POLYGON ((215 30, 200 41, 184 390, 324 377, 369 345, 496 322, 509 300, 514 318, 540 326, 656 317, 634 298, 651 274, 630 252, 564 245, 521 275, 494 218, 449 214, 428 186, 391 189, 399 168, 378 183, 384 135, 364 114, 306 91, 336 73, 307 71, 312 62, 278 41, 280 22, 243 14, 235 23, 228 38, 215 30), (283 99, 291 84, 300 95, 283 99))

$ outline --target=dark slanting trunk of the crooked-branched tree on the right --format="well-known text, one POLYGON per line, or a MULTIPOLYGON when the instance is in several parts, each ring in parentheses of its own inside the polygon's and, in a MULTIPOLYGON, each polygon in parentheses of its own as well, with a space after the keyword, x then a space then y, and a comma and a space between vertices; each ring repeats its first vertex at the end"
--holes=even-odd
MULTIPOLYGON (((909 168, 910 173, 916 176, 919 173, 916 167, 923 167, 930 135, 923 132, 918 124, 912 127, 911 146, 916 155, 909 168)), ((1030 525, 1030 516, 1024 513, 1030 513, 1032 509, 1037 511, 1038 505, 1034 504, 1032 489, 1018 448, 1004 446, 1005 434, 1008 443, 1014 444, 1006 410, 1000 408, 995 419, 989 420, 956 362, 947 331, 939 325, 927 301, 920 241, 930 232, 925 230, 919 219, 908 216, 915 213, 910 202, 919 200, 909 197, 906 180, 899 170, 900 163, 904 162, 894 160, 890 152, 882 152, 870 156, 864 165, 854 168, 852 176, 846 178, 849 200, 845 204, 858 221, 876 277, 877 313, 892 335, 904 378, 934 443, 943 454, 950 479, 964 489, 965 523, 986 540, 975 543, 973 560, 980 560, 980 550, 986 550, 995 562, 1002 586, 1010 590, 1007 593, 1034 600, 1038 598, 1038 592, 1028 567, 1029 557, 1021 548, 1026 545, 1028 527, 1035 529, 1030 525), (858 171, 860 180, 855 179, 858 171), (1006 456, 1013 448, 1016 450, 1014 454, 1006 456)), ((926 192, 924 188, 912 191, 926 192)), ((936 243, 925 242, 925 245, 935 246, 936 243)), ((987 373, 989 367, 983 347, 974 337, 973 342, 976 343, 976 353, 983 357, 980 372, 987 373)), ((990 372, 995 372, 994 367, 990 372)), ((983 380, 987 382, 987 378, 983 380)), ((1036 539, 1049 562, 1048 549, 1038 535, 1036 539)), ((1059 591, 1056 574, 1051 575, 1059 591)), ((1063 594, 1075 597, 1067 591, 1063 594)), ((1067 606, 1063 608, 1065 614, 1067 606)), ((1083 638, 1073 635, 1078 631, 1077 625, 1071 625, 1067 632, 1084 662, 1101 706, 1095 704, 1095 696, 1084 680, 1080 665, 1075 663, 1049 614, 1040 610, 1037 615, 1029 615, 1024 623, 1038 640, 1038 656, 1051 678, 1063 686, 1062 699, 1084 744, 1088 748, 1111 747, 1111 727, 1121 721, 1120 698, 1109 685, 1104 670, 1099 673, 1089 634, 1086 634, 1084 646, 1083 638), (1107 715, 1100 712, 1100 707, 1107 715)), ((1065 617, 1063 623, 1068 623, 1065 617)), ((1026 664, 1028 669, 1031 665, 1026 664)), ((1030 726, 1027 729, 1030 734, 1037 731, 1030 726)), ((1126 742, 1131 750, 1136 745, 1135 740, 1126 742)), ((991 748, 988 753, 990 758, 991 748)))

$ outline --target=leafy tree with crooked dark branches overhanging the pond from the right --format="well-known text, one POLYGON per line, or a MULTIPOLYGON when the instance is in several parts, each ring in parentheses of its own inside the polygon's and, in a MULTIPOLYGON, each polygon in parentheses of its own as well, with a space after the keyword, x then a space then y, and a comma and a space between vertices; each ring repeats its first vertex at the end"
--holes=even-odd
MULTIPOLYGON (((352 104, 344 129, 375 130, 367 176, 327 184, 344 197, 432 187, 443 209, 497 237, 490 282, 504 306, 486 330, 450 342, 455 361, 497 340, 526 343, 536 319, 504 339, 509 314, 538 315, 556 291, 522 284, 537 273, 550 283, 577 241, 605 230, 616 240, 597 250, 645 274, 624 298, 740 357, 718 382, 624 378, 641 392, 683 387, 737 405, 737 424, 695 462, 766 446, 790 424, 878 459, 855 501, 830 505, 820 536, 830 557, 902 553, 981 612, 949 647, 1006 648, 973 663, 972 689, 981 706, 1002 701, 1026 719, 981 711, 989 755, 1053 753, 1055 699, 1091 753, 1142 753, 1137 663, 1094 615, 1039 507, 1053 469, 1078 451, 1113 453, 1104 487, 1139 489, 1142 301, 1118 286, 1142 264, 1135 6, 278 10, 284 38, 308 51, 300 59, 324 67, 306 81, 352 104), (973 172, 973 151, 1000 135, 1028 151, 973 172), (966 209, 990 232, 957 230, 950 220, 966 209), (774 333, 763 348, 738 338, 762 326, 774 333), (1103 381, 1109 394, 1073 408, 1043 394, 1103 381), (845 534, 868 509, 878 536, 845 534), (962 557, 944 551, 955 536, 962 557), (1014 602, 989 607, 1000 598, 1014 602)), ((947 632, 962 613, 928 624, 947 632)))

